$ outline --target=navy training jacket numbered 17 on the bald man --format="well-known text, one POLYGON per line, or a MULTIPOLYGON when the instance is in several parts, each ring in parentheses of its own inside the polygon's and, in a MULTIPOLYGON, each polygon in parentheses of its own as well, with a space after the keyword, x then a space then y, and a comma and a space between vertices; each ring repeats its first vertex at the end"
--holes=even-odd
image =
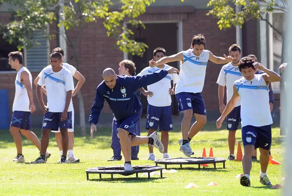
POLYGON ((107 87, 102 81, 95 94, 95 99, 91 108, 89 123, 96 124, 104 106, 104 100, 110 106, 117 121, 121 121, 142 109, 135 91, 143 86, 148 86, 163 79, 168 74, 167 70, 153 72, 142 76, 117 76, 116 85, 113 89, 107 87))

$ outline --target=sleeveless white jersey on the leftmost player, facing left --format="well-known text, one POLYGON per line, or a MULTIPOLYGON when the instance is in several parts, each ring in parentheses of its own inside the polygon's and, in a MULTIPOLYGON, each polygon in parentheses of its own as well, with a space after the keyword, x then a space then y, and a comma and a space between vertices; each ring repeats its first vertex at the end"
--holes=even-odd
POLYGON ((33 83, 33 77, 31 76, 30 71, 26 67, 22 67, 16 74, 15 79, 15 96, 12 106, 12 111, 30 111, 30 99, 27 94, 27 90, 24 84, 21 84, 21 72, 26 71, 29 75, 30 85, 33 83))

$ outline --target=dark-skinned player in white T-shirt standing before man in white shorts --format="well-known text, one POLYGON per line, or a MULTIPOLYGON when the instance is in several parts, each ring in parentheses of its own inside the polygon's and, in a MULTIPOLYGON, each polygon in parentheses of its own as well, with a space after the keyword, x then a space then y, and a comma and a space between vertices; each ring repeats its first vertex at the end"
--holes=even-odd
POLYGON ((39 78, 36 88, 37 97, 42 113, 45 115, 42 123, 41 156, 32 163, 46 163, 45 151, 49 144, 51 130, 60 128, 63 154, 61 163, 67 163, 68 128, 72 129, 72 91, 74 90, 73 77, 70 71, 62 67, 62 54, 53 52, 50 55, 51 67, 45 67, 39 78), (42 87, 46 87, 48 108, 45 107, 42 97, 42 87))

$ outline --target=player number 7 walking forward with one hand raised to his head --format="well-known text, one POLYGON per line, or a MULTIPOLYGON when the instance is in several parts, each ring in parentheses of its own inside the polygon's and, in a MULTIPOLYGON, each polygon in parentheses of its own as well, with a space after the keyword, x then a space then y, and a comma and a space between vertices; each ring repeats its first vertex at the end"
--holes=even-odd
POLYGON ((253 62, 252 58, 244 57, 238 65, 243 78, 236 80, 233 86, 233 95, 228 101, 222 115, 216 122, 219 129, 225 117, 236 106, 238 99, 241 99, 241 132, 244 145, 242 166, 244 175, 240 178, 240 184, 250 186, 250 170, 252 166, 251 157, 254 149, 260 151, 260 182, 264 185, 272 185, 268 176, 269 151, 272 142, 271 124, 273 123, 269 107, 270 82, 278 82, 281 76, 253 62), (256 69, 265 73, 255 74, 256 69), (256 107, 255 107, 256 106, 256 107))

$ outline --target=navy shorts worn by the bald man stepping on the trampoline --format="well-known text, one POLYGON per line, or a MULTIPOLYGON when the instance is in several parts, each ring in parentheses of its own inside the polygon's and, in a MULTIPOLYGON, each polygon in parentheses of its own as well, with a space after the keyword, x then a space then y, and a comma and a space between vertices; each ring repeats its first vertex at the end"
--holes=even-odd
MULTIPOLYGON (((136 134, 136 124, 140 120, 142 114, 142 109, 133 114, 132 116, 129 116, 123 120, 116 120, 116 133, 118 134, 118 129, 125 129, 127 132, 129 132, 129 135, 137 135, 136 134)), ((118 135, 119 137, 119 135, 118 135)))

